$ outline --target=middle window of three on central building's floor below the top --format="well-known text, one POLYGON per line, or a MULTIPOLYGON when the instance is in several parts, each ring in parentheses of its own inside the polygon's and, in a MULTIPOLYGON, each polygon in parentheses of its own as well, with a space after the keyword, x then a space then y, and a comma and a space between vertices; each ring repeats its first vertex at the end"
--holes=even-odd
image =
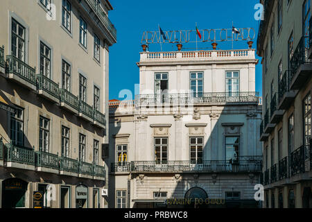
POLYGON ((191 164, 202 164, 204 138, 189 138, 191 164))

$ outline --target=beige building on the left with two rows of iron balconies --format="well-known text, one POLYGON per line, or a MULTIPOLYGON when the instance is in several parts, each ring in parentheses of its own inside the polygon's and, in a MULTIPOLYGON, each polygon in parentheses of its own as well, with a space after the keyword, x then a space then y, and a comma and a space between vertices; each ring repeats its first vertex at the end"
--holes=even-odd
POLYGON ((107 207, 109 10, 1 1, 0 207, 107 207))

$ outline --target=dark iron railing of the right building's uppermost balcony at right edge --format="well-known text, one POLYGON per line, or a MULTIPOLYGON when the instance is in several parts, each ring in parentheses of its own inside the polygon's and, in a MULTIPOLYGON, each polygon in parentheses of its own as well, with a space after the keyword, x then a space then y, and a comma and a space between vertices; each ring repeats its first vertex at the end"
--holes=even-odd
POLYGON ((309 60, 309 57, 308 57, 309 48, 310 48, 309 37, 303 36, 300 39, 300 42, 298 43, 297 48, 295 49, 293 53, 293 57, 291 58, 290 80, 293 80, 300 65, 304 65, 306 63, 312 62, 311 60, 309 60))

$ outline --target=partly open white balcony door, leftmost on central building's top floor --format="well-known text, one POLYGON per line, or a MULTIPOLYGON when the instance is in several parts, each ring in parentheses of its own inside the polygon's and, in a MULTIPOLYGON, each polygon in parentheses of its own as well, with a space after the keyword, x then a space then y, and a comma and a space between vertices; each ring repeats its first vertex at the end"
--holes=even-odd
POLYGON ((155 101, 157 103, 164 103, 165 95, 168 94, 168 74, 155 74, 155 101))

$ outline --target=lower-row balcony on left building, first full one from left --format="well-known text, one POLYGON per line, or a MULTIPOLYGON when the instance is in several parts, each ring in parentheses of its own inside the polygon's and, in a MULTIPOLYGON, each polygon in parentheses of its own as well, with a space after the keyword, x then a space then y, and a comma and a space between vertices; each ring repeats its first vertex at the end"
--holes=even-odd
POLYGON ((13 144, 6 144, 5 146, 6 167, 35 170, 35 151, 33 148, 19 147, 13 144))

